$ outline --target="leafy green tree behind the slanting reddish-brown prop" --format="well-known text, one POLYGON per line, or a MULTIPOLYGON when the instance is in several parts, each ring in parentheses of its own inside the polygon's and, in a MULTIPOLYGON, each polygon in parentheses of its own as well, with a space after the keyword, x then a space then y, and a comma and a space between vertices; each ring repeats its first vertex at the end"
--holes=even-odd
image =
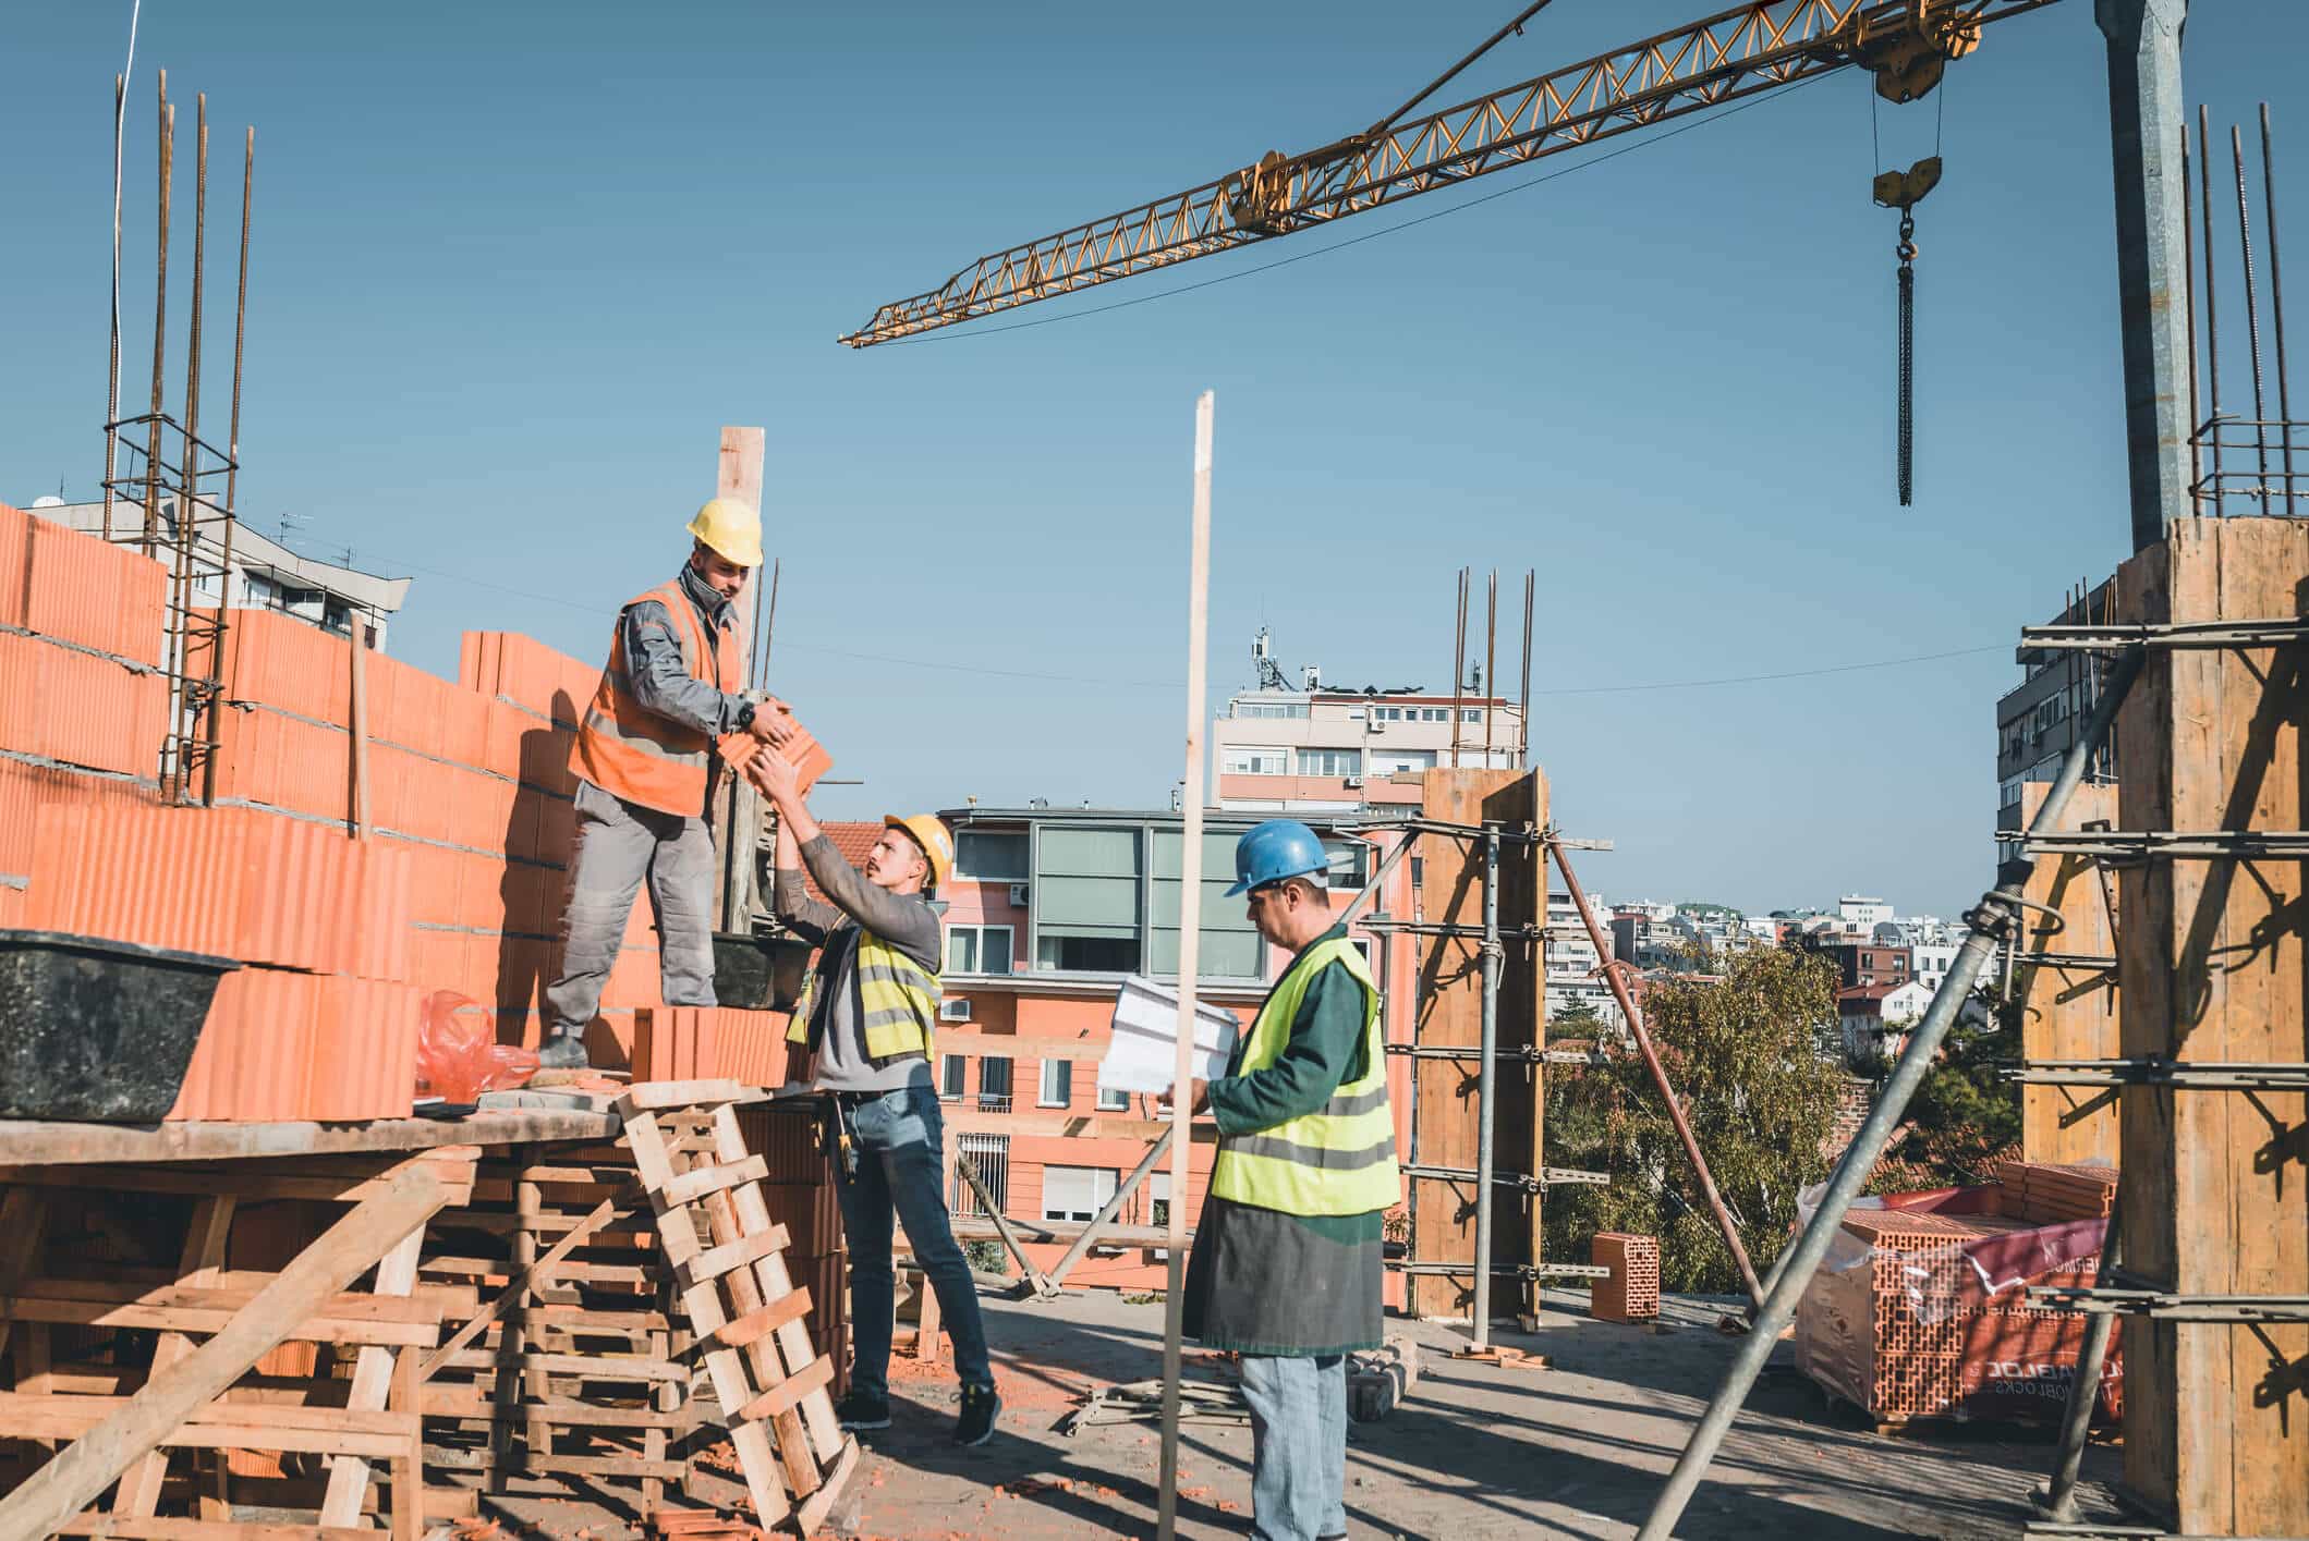
MULTIPOLYGON (((1833 1156, 1822 1144, 1843 1070, 1817 1045, 1836 1022, 1836 967, 1776 948, 1716 967, 1720 978, 1653 980, 1644 1022, 1741 1243, 1764 1273, 1787 1241, 1796 1193, 1826 1177, 1833 1156)), ((1547 1151, 1554 1165, 1612 1174, 1609 1188, 1549 1190, 1552 1260, 1586 1262, 1596 1232, 1642 1232, 1660 1239, 1667 1290, 1739 1290, 1739 1271, 1632 1045, 1607 1045, 1600 1066, 1549 1068, 1547 1151)))

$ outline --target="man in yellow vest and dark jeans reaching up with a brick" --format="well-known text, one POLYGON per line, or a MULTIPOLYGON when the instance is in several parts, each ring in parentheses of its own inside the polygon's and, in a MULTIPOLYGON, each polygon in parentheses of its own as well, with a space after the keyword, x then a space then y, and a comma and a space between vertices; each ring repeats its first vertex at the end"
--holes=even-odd
POLYGON ((748 775, 778 810, 771 907, 820 948, 787 1043, 797 1070, 810 1057, 810 1087, 831 1105, 834 1190, 850 1246, 852 1366, 836 1414, 843 1428, 889 1428, 896 1218, 954 1336, 963 1382, 954 1442, 986 1444, 1002 1403, 977 1283, 947 1218, 944 1119, 931 1080, 940 999, 931 893, 954 872, 954 835, 935 814, 887 817, 859 872, 817 828, 783 754, 757 757, 748 775), (831 904, 804 890, 804 865, 831 904))

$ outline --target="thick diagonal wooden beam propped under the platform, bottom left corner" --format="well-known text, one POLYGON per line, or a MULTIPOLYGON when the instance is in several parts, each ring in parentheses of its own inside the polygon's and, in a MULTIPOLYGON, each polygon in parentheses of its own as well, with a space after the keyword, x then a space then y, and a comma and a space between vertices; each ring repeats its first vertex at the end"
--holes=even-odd
POLYGON ((439 1163, 413 1160, 282 1269, 215 1338, 145 1382, 118 1412, 0 1499, 0 1536, 46 1536, 79 1516, 141 1456, 215 1400, 300 1320, 376 1264, 450 1197, 439 1163))

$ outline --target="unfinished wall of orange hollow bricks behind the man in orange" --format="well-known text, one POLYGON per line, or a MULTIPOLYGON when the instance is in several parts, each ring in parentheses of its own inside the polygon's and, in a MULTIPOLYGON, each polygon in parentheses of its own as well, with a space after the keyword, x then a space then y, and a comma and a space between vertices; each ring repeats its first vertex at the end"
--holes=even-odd
MULTIPOLYGON (((536 1043, 559 964, 577 713, 600 678, 466 632, 457 681, 367 653, 367 837, 353 837, 353 644, 233 611, 215 807, 166 807, 166 570, 0 505, 0 925, 240 960, 175 1119, 406 1117, 423 999, 536 1043)), ((596 1063, 783 1080, 785 1017, 658 1008, 637 904, 596 1063)))

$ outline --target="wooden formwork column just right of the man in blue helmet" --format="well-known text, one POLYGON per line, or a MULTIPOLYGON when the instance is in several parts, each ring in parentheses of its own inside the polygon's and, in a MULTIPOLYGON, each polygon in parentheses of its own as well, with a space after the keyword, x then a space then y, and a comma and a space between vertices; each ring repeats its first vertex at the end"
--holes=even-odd
MULTIPOLYGON (((1538 770, 1429 770, 1420 814, 1443 824, 1499 824, 1508 833, 1547 824, 1547 777, 1538 770)), ((1482 925, 1482 844, 1450 835, 1420 835, 1418 916, 1427 923, 1482 925)), ((1547 867, 1538 844, 1503 842, 1499 851, 1499 925, 1503 932, 1545 923, 1547 867)), ((1418 937, 1413 1043, 1469 1047, 1482 1040, 1482 944, 1478 937, 1418 937)), ((1545 1047, 1547 967, 1533 939, 1508 939, 1499 976, 1499 1047, 1545 1047)), ((1475 1070, 1466 1059, 1413 1059, 1413 1147, 1418 1165, 1475 1170, 1475 1070)), ((1542 1160, 1540 1068, 1501 1063, 1494 1073, 1492 1149, 1496 1172, 1538 1174, 1542 1160)), ((1411 1257, 1422 1264, 1475 1260, 1475 1188, 1466 1181, 1413 1177, 1411 1257)), ((1492 1264, 1540 1257, 1540 1200, 1508 1186, 1492 1188, 1492 1264)), ((1411 1313, 1466 1315, 1473 1273, 1418 1273, 1411 1313)), ((1535 1290, 1522 1310, 1535 1308, 1535 1290)), ((1515 1292, 1494 1290, 1503 1313, 1515 1292)))

